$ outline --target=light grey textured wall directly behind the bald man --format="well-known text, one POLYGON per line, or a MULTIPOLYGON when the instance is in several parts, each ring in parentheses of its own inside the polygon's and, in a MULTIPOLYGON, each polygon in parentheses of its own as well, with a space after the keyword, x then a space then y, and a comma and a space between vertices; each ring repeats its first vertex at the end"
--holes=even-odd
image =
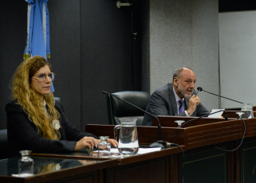
MULTIPOLYGON (((218 0, 150 0, 149 6, 149 56, 144 57, 149 91, 171 83, 175 69, 188 66, 196 87, 218 94, 218 0)), ((208 110, 219 107, 218 97, 203 92, 199 97, 208 110)))

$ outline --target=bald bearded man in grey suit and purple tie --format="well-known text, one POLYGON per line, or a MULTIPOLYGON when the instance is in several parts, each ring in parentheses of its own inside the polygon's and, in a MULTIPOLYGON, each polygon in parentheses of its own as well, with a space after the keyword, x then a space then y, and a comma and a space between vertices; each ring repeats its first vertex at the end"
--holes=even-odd
MULTIPOLYGON (((152 115, 202 116, 210 114, 195 94, 195 73, 191 68, 178 68, 172 84, 156 89, 146 111, 152 115)), ((152 126, 154 118, 144 114, 143 126, 152 126)))

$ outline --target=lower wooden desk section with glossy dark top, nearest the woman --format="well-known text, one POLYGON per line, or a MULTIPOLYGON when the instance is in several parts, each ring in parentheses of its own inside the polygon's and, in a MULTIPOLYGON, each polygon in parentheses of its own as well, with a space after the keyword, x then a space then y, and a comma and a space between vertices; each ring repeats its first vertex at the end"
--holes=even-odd
POLYGON ((33 154, 33 177, 12 177, 18 173, 18 158, 0 160, 1 182, 177 182, 179 169, 170 171, 171 154, 178 148, 128 158, 97 158, 88 154, 33 154), (56 170, 56 167, 61 169, 56 170), (173 175, 175 173, 175 175, 173 175), (171 181, 172 180, 172 181, 171 181))

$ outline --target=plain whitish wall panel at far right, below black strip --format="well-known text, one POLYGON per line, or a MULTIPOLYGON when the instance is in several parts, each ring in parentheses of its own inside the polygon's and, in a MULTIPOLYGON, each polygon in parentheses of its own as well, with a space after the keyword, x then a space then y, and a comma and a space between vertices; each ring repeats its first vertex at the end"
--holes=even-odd
MULTIPOLYGON (((256 104, 256 11, 219 14, 221 94, 256 104)), ((222 107, 242 104, 221 100, 222 107)))

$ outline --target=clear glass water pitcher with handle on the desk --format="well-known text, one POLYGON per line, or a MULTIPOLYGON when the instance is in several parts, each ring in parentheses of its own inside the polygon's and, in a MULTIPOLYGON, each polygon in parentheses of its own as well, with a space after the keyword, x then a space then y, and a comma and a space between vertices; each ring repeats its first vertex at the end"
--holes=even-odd
POLYGON ((136 154, 139 150, 136 120, 120 119, 121 124, 114 128, 115 139, 117 139, 117 129, 120 129, 118 151, 121 154, 136 154))

